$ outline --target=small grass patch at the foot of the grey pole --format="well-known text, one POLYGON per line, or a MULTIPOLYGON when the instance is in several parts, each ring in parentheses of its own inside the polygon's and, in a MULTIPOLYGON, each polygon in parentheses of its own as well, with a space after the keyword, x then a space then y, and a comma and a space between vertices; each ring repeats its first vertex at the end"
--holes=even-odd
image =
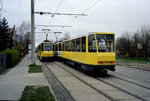
POLYGON ((43 72, 40 65, 29 65, 29 73, 40 73, 43 72))

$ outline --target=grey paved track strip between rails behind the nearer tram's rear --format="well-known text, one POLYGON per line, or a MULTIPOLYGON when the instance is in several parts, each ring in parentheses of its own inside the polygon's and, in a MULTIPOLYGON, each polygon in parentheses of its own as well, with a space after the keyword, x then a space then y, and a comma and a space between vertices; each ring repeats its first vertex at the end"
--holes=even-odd
POLYGON ((95 77, 95 78, 106 84, 116 87, 116 88, 120 89, 121 91, 124 91, 132 96, 135 96, 143 101, 149 101, 148 98, 145 99, 146 97, 149 97, 148 96, 148 94, 150 93, 149 86, 135 83, 133 81, 123 79, 121 77, 117 77, 113 74, 108 74, 108 76, 111 76, 112 78, 111 77, 109 79, 101 78, 101 77, 95 77), (139 91, 140 93, 136 92, 136 90, 139 91))

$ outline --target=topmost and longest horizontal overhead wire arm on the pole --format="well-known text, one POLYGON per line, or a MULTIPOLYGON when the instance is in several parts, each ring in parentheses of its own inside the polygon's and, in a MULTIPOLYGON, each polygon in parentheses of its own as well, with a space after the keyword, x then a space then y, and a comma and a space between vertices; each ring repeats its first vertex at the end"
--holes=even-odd
POLYGON ((88 16, 88 14, 70 14, 70 13, 52 13, 52 12, 34 12, 34 14, 49 15, 70 15, 70 16, 88 16))

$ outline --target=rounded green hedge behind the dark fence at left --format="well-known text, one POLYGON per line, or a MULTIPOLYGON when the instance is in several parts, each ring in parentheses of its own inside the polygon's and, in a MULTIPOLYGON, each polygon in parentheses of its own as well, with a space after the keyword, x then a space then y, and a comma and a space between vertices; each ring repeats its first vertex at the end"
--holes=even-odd
POLYGON ((8 66, 12 66, 17 63, 20 58, 20 52, 15 49, 7 49, 3 50, 0 53, 7 53, 8 54, 8 66))

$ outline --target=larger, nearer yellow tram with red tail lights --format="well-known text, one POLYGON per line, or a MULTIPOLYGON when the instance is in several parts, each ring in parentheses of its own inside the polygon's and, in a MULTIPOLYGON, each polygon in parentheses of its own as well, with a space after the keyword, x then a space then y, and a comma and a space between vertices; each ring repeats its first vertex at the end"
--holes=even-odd
POLYGON ((91 32, 56 44, 57 56, 83 71, 115 70, 115 33, 91 32))

